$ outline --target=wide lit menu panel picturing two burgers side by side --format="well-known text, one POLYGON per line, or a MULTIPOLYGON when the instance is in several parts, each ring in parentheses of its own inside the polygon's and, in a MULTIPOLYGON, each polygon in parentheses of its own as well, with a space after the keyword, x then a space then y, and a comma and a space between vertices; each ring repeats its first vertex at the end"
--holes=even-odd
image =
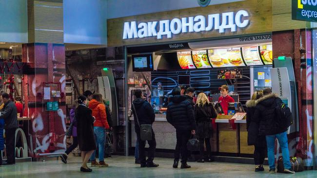
POLYGON ((245 66, 240 48, 222 48, 208 50, 211 65, 214 68, 245 66))

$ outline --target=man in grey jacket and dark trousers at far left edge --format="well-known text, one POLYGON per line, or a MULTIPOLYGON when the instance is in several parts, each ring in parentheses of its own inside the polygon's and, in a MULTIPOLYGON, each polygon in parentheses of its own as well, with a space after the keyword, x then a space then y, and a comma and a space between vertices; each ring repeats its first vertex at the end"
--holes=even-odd
POLYGON ((17 107, 10 100, 8 93, 2 93, 2 100, 4 102, 3 111, 1 111, 0 118, 4 119, 4 129, 5 129, 5 145, 7 151, 7 162, 4 164, 15 164, 15 135, 16 129, 18 128, 18 112, 17 107))

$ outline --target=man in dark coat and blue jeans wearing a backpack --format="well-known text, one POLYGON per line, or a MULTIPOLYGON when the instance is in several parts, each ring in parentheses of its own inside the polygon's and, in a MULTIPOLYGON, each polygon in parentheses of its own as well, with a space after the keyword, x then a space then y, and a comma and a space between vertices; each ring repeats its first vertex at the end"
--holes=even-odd
POLYGON ((278 98, 276 94, 272 93, 270 88, 263 90, 263 97, 258 99, 256 104, 256 110, 254 113, 255 118, 260 118, 259 124, 259 135, 266 136, 267 154, 270 166, 270 173, 275 173, 275 140, 279 142, 282 150, 284 172, 292 173, 295 172, 291 168, 289 150, 288 150, 288 139, 287 129, 280 129, 277 125, 277 114, 276 107, 282 104, 282 100, 278 98))

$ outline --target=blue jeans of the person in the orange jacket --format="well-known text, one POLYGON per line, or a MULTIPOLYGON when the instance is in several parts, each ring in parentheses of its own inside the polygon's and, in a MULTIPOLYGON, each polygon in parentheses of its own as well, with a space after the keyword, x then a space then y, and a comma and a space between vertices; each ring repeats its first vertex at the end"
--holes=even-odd
MULTIPOLYGON (((95 138, 96 138, 96 146, 99 146, 99 161, 104 160, 104 143, 106 141, 106 130, 104 127, 94 127, 95 138)), ((96 150, 91 155, 90 160, 96 160, 96 150)))

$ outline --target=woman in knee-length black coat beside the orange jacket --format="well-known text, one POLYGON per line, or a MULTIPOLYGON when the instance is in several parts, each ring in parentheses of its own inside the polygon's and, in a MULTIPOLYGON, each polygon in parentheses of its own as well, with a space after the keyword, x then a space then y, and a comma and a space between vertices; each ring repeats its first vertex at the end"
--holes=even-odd
POLYGON ((77 137, 79 149, 81 151, 82 165, 81 172, 91 172, 87 162, 90 156, 96 150, 96 141, 94 135, 95 118, 92 116, 92 111, 86 107, 87 98, 83 95, 78 97, 79 106, 75 110, 77 120, 77 137))

